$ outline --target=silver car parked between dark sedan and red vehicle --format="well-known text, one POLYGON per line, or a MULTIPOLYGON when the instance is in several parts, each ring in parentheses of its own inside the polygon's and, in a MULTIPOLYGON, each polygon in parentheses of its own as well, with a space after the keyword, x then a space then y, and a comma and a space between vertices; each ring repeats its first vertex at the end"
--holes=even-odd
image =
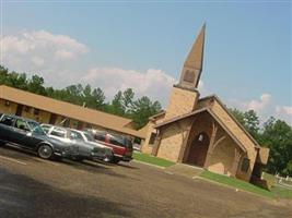
POLYGON ((113 149, 95 142, 92 135, 87 133, 50 124, 42 124, 40 126, 49 137, 72 145, 72 159, 83 160, 96 158, 104 161, 110 161, 113 159, 113 149))

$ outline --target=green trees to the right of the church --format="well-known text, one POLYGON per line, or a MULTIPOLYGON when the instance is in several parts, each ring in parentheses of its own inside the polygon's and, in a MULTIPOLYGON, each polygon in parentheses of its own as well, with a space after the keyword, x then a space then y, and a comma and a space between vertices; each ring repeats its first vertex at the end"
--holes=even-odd
POLYGON ((254 110, 243 112, 238 109, 230 109, 230 111, 259 145, 270 148, 266 171, 292 175, 292 128, 273 117, 260 126, 258 116, 254 110))

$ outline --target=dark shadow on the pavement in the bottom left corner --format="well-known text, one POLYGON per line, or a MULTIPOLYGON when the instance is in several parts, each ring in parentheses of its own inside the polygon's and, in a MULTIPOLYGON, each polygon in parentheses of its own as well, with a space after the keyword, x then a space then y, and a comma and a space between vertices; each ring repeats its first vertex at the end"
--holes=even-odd
POLYGON ((132 217, 121 203, 63 192, 1 169, 0 196, 0 215, 4 218, 132 217))

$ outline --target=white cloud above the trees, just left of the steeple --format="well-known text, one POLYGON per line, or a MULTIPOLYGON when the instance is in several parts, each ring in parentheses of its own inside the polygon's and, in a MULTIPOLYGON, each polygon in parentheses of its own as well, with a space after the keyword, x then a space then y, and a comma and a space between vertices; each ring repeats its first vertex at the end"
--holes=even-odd
POLYGON ((84 83, 101 87, 112 98, 118 90, 133 88, 137 96, 150 96, 163 106, 168 101, 175 78, 162 70, 149 69, 145 72, 119 68, 94 68, 82 77, 84 83))

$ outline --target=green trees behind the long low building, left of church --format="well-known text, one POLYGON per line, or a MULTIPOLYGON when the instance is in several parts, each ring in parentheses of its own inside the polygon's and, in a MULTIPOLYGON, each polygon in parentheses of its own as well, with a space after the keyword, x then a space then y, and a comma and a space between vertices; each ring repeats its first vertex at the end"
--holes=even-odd
POLYGON ((101 110, 116 116, 132 119, 136 129, 148 123, 148 118, 162 110, 161 104, 152 101, 149 97, 136 98, 131 88, 117 92, 110 101, 101 88, 93 88, 91 85, 70 85, 66 88, 46 87, 42 76, 33 75, 27 77, 26 73, 10 72, 9 69, 0 65, 0 85, 8 85, 19 89, 27 90, 42 96, 51 97, 74 105, 101 110))

